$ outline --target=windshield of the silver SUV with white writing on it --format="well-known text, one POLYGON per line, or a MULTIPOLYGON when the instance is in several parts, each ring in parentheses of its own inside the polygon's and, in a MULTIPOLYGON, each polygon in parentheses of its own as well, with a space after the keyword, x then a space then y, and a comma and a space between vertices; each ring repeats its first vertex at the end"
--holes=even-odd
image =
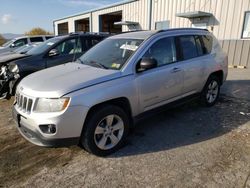
POLYGON ((139 39, 106 39, 81 56, 80 61, 91 66, 120 70, 142 42, 139 39))

